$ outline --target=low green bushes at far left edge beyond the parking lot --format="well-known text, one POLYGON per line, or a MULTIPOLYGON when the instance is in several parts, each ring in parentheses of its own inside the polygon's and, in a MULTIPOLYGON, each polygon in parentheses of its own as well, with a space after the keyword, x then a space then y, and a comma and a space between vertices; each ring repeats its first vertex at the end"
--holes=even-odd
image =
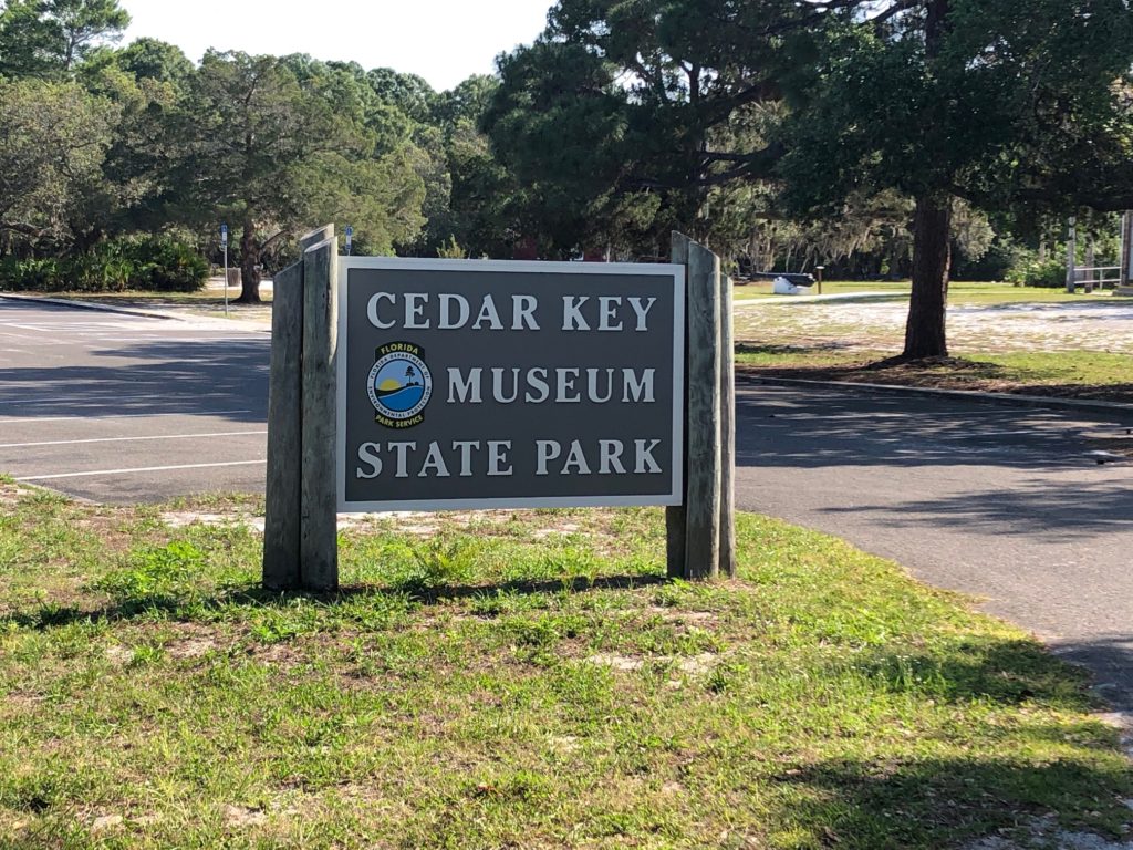
POLYGON ((208 263, 187 245, 151 237, 103 243, 68 258, 0 260, 0 290, 193 292, 208 279, 208 263))

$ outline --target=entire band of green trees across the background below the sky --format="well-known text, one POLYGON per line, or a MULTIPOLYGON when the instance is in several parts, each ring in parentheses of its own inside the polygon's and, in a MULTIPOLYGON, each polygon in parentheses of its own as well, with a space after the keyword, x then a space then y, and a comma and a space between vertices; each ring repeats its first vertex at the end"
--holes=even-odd
POLYGON ((911 275, 947 351, 956 261, 1042 262, 1133 207, 1126 0, 560 0, 499 73, 116 46, 117 0, 0 0, 0 252, 167 235, 244 297, 297 232, 360 252, 667 255, 911 275), (86 128, 83 130, 82 128, 86 128), (56 151, 57 155, 49 155, 56 151), (1092 209, 1089 215, 1085 209, 1092 209))

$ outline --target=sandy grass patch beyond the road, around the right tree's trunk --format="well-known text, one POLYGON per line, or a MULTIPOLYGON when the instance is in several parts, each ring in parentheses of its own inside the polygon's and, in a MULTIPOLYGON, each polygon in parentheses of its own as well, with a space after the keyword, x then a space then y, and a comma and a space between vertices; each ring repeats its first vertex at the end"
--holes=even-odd
POLYGON ((781 377, 1133 403, 1133 355, 1122 313, 1133 299, 1004 283, 953 283, 948 304, 956 309, 948 328, 954 357, 910 365, 887 362, 901 351, 908 282, 834 282, 826 291, 851 294, 870 286, 892 291, 892 301, 792 306, 790 298, 781 297, 774 306, 738 308, 738 364, 781 377), (1000 305, 1002 312, 996 309, 1000 305))

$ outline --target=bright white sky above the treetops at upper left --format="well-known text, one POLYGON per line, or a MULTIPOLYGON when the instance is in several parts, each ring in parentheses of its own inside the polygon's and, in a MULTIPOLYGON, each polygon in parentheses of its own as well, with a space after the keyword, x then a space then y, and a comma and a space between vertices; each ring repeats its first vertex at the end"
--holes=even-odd
POLYGON ((198 61, 205 50, 309 53, 417 74, 437 91, 491 74, 499 53, 530 44, 552 0, 119 0, 134 19, 121 44, 148 36, 198 61))

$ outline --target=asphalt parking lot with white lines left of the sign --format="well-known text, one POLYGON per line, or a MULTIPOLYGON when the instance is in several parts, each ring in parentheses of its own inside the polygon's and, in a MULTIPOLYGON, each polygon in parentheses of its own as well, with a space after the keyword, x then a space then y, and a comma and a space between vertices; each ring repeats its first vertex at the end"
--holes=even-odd
POLYGON ((0 471, 100 502, 263 492, 264 330, 0 298, 0 471))

